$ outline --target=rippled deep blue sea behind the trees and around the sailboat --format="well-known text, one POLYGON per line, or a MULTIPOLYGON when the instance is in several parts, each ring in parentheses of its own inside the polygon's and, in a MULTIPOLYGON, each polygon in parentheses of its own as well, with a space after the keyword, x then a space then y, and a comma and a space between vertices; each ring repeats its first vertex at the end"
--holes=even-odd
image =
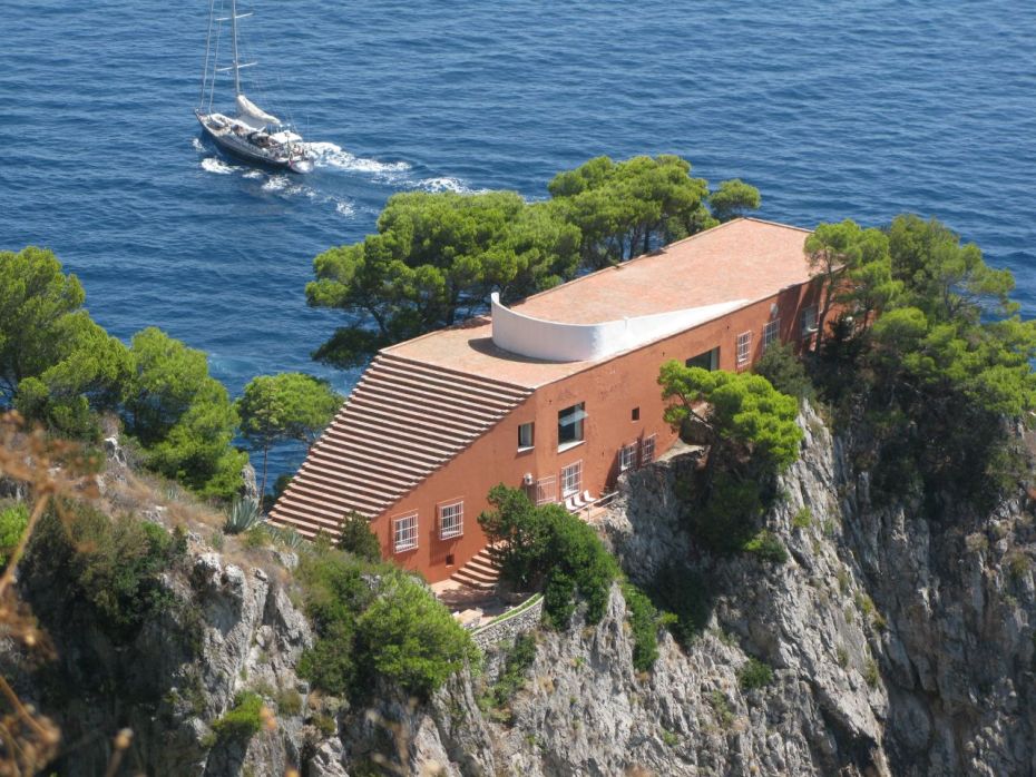
POLYGON ((1032 0, 240 9, 246 89, 319 144, 310 176, 202 142, 207 0, 0 0, 0 248, 49 246, 110 332, 160 326, 235 394, 282 371, 355 381, 310 360, 343 318, 304 286, 393 193, 535 199, 602 154, 682 155, 802 226, 936 215, 1014 271, 1036 315, 1032 0))

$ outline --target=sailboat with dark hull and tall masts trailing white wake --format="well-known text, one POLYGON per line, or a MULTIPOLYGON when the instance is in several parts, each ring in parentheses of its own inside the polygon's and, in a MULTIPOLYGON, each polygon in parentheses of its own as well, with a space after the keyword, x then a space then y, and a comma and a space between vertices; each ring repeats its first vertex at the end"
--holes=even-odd
MULTIPOLYGON (((216 18, 216 3, 209 7, 208 43, 205 51, 205 69, 202 73, 202 97, 194 114, 205 134, 213 142, 228 154, 246 161, 257 163, 292 173, 313 170, 314 157, 302 141, 302 136, 294 128, 276 116, 267 114, 241 89, 241 71, 255 62, 242 62, 237 51, 237 20, 252 13, 237 13, 237 0, 231 0, 231 14, 216 18), (218 67, 217 55, 222 28, 216 24, 231 22, 233 61, 226 67, 218 67), (215 41, 213 31, 215 30, 215 41), (212 66, 212 70, 209 70, 212 66), (234 73, 235 112, 234 116, 213 110, 216 91, 216 76, 221 72, 234 73), (206 109, 207 89, 207 109, 206 109)), ((221 2, 222 8, 222 2, 221 2)))

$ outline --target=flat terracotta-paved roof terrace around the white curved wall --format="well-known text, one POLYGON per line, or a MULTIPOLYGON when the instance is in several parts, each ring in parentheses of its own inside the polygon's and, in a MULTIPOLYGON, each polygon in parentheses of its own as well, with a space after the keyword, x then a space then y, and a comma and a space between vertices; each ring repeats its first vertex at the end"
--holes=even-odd
MULTIPOLYGON (((809 235, 808 229, 753 218, 727 222, 662 250, 541 292, 511 309, 543 321, 589 325, 734 301, 749 304, 809 281, 809 235)), ((603 361, 551 362, 505 351, 493 343, 488 317, 384 351, 529 389, 603 361)))

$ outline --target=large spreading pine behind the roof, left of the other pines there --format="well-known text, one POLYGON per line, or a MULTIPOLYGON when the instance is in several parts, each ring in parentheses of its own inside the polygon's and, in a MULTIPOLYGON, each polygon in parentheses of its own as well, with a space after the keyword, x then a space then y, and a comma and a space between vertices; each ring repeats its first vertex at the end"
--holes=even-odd
POLYGON ((573 276, 579 234, 547 203, 516 193, 411 191, 389 198, 378 234, 314 260, 310 305, 345 311, 358 323, 314 354, 339 365, 362 363, 378 348, 449 326, 573 276))

